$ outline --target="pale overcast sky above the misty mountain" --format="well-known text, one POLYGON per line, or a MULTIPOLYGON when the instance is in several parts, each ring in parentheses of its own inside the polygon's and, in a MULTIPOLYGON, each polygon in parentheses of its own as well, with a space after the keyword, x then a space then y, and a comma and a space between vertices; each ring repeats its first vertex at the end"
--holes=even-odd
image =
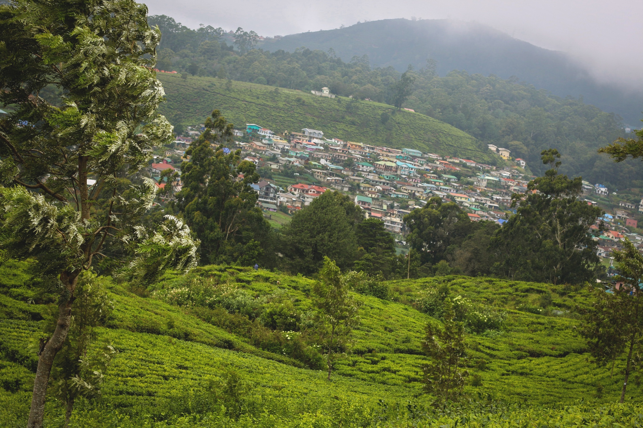
POLYGON ((147 0, 150 15, 190 28, 288 35, 358 21, 478 21, 536 46, 566 51, 602 81, 643 90, 643 0, 147 0))

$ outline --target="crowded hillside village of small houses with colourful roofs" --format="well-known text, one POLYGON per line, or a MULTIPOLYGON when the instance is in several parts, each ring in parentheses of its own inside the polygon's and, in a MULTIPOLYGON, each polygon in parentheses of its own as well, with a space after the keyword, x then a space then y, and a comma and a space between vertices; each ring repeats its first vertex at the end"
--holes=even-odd
MULTIPOLYGON (((176 138, 173 150, 150 165, 158 187, 165 186, 161 171, 171 168, 180 175, 179 164, 187 159, 184 150, 203 129, 203 125, 188 127, 186 136, 176 138)), ((404 242, 406 232, 404 215, 422 208, 434 196, 457 203, 471 221, 502 225, 516 213, 512 195, 527 192, 534 178, 525 160, 512 158, 510 150, 493 144, 488 148, 499 157, 500 166, 413 148, 342 141, 311 128, 275 133, 248 123, 234 135, 242 159, 253 162, 262 176, 252 187, 258 194, 258 206, 276 226, 329 189, 350 194, 365 217, 381 219, 399 243, 404 242)), ((180 178, 173 186, 174 191, 181 189, 180 178)), ((637 218, 643 214, 643 198, 633 203, 615 195, 602 184, 583 181, 584 201, 606 211, 600 221, 607 230, 597 237, 599 256, 606 266, 611 266, 611 252, 621 247, 625 237, 643 251, 643 234, 636 233, 640 232, 637 218), (610 209, 615 203, 618 208, 610 209)), ((598 227, 598 223, 593 225, 598 227)))

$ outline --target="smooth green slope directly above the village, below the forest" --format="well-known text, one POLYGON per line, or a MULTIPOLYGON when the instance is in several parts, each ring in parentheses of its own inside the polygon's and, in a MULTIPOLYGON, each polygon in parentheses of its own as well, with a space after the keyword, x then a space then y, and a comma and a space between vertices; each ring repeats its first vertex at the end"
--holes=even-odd
POLYGON ((167 94, 167 102, 159 112, 173 124, 203 123, 213 109, 243 128, 246 123, 257 123, 275 132, 300 132, 314 128, 327 137, 387 145, 394 148, 415 148, 444 155, 458 155, 480 162, 491 155, 480 142, 457 128, 428 116, 402 110, 390 105, 361 101, 351 103, 348 98, 317 97, 297 90, 279 89, 232 81, 230 90, 226 81, 216 78, 190 77, 183 80, 172 74, 158 73, 167 94), (300 98, 303 103, 297 101, 300 98), (357 111, 350 112, 351 107, 357 111), (381 123, 381 114, 389 112, 390 119, 381 123))

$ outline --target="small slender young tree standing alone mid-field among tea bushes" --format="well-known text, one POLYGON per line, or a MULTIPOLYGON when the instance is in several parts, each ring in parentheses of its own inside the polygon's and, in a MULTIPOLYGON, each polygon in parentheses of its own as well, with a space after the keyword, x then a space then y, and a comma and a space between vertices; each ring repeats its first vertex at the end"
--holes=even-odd
POLYGON ((350 341, 352 329, 359 324, 358 306, 349 294, 349 284, 334 261, 324 257, 320 280, 312 286, 318 334, 325 348, 328 380, 337 353, 350 341))

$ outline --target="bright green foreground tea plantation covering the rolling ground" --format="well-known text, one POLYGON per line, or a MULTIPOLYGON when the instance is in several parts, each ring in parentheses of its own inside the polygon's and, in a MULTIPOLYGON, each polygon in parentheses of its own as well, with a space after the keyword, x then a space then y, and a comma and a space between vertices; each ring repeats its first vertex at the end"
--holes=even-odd
MULTIPOLYGON (((25 285, 26 264, 0 266, 0 426, 22 427, 37 342, 51 300, 25 285)), ((100 397, 72 427, 542 427, 643 424, 641 389, 618 400, 617 361, 597 368, 577 334, 581 287, 493 278, 389 282, 386 299, 355 294, 361 323, 332 380, 305 344, 313 280, 233 266, 168 273, 149 289, 109 286, 113 311, 89 350, 118 354, 100 397), (467 318, 466 399, 435 408, 422 392, 424 325, 446 293, 467 318), (286 308, 293 324, 272 330, 286 308), (472 309, 473 308, 473 309, 472 309), (477 316, 477 315, 476 315, 477 316), (486 318, 485 318, 486 317, 486 318), (476 321, 477 320, 477 321, 476 321), (267 326, 267 327, 266 327, 267 326), (290 327, 289 327, 290 326, 290 327), (286 330, 291 328, 293 330, 286 330)), ((48 400, 46 426, 64 410, 48 400)))

